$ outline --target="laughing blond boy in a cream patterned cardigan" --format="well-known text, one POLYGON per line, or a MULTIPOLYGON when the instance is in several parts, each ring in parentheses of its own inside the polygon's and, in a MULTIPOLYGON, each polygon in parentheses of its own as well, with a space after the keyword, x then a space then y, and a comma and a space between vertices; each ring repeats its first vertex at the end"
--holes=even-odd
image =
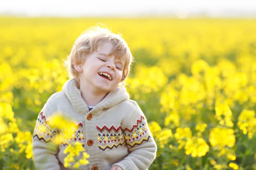
POLYGON ((68 56, 68 80, 41 110, 33 135, 36 169, 63 170, 68 144, 80 141, 90 155, 83 170, 146 170, 157 146, 145 115, 123 87, 132 62, 131 51, 118 34, 99 26, 87 29, 68 56), (72 116, 79 128, 73 139, 49 147, 48 119, 55 112, 72 116))

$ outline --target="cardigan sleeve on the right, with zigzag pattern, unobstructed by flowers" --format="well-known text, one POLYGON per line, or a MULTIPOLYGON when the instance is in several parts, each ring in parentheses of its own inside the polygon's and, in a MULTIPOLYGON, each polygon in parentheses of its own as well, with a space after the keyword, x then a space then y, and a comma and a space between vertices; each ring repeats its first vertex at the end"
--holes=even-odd
POLYGON ((148 169, 156 157, 157 144, 151 135, 146 117, 138 105, 122 131, 129 154, 113 166, 119 166, 122 170, 148 169))

